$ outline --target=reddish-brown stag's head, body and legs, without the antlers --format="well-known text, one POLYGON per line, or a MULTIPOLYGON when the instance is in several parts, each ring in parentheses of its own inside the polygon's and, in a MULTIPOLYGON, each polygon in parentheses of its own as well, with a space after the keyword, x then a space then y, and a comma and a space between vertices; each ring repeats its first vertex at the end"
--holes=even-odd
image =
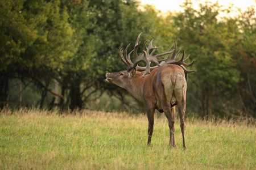
MULTIPOLYGON (((187 82, 184 70, 177 65, 163 65, 151 71, 151 74, 142 76, 136 71, 134 76, 127 71, 106 74, 108 82, 125 88, 131 95, 147 105, 148 117, 148 145, 151 145, 151 137, 154 130, 155 109, 164 112, 170 126, 170 146, 175 147, 174 140, 174 116, 175 105, 181 109, 183 116, 181 124, 184 126, 185 92, 187 82)), ((185 141, 184 147, 185 147, 185 141)))

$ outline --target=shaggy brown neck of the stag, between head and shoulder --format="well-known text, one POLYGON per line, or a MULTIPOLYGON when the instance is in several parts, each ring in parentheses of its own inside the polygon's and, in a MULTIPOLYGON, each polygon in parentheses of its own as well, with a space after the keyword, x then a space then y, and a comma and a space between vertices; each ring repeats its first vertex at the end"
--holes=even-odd
POLYGON ((143 84, 144 78, 142 74, 135 74, 133 78, 131 78, 129 85, 126 86, 126 90, 139 101, 145 102, 143 97, 143 84))

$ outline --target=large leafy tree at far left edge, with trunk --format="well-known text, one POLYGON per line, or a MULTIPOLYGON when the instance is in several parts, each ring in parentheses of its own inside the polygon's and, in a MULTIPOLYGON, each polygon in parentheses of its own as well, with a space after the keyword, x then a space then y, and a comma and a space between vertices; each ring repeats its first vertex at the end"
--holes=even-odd
POLYGON ((9 80, 29 80, 45 91, 61 63, 73 53, 72 29, 59 1, 1 1, 1 100, 6 101, 9 80), (6 73, 8 73, 6 75, 6 73))

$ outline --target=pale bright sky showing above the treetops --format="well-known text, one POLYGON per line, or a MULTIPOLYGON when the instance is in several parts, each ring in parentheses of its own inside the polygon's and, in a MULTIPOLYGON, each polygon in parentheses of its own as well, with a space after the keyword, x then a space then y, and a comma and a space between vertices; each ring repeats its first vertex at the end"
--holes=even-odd
MULTIPOLYGON (((138 0, 142 2, 142 5, 155 5, 158 10, 162 12, 167 11, 180 11, 180 5, 184 2, 183 0, 138 0)), ((216 2, 217 0, 192 0, 194 7, 196 5, 205 1, 216 2)), ((256 0, 220 0, 218 1, 220 5, 228 7, 229 3, 232 3, 234 7, 246 8, 248 6, 256 6, 256 0)))

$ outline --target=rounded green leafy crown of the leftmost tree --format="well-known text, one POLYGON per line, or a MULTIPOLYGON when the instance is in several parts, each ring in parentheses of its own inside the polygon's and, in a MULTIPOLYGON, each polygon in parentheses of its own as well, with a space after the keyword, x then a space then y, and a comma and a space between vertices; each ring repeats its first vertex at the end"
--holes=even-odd
POLYGON ((72 52, 72 29, 59 1, 1 1, 1 67, 56 69, 72 52))

